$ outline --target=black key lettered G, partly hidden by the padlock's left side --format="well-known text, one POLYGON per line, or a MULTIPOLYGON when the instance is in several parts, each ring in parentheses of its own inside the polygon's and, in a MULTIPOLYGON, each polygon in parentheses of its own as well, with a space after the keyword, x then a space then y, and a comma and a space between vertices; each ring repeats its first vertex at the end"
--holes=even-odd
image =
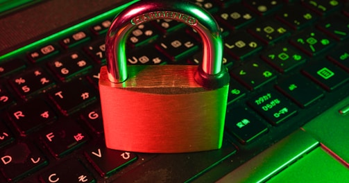
POLYGON ((96 134, 104 132, 102 110, 99 103, 83 110, 81 117, 96 134))

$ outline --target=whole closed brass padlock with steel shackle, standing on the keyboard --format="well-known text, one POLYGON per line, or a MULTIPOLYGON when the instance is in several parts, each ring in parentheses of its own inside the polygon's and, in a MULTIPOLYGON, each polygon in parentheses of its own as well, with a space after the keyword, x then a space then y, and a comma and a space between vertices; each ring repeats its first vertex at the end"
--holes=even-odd
POLYGON ((108 148, 142 153, 221 148, 230 76, 222 63, 221 32, 209 12, 187 1, 138 1, 112 21, 105 49, 99 92, 108 148), (127 66, 129 33, 155 19, 194 28, 203 40, 202 62, 127 66))

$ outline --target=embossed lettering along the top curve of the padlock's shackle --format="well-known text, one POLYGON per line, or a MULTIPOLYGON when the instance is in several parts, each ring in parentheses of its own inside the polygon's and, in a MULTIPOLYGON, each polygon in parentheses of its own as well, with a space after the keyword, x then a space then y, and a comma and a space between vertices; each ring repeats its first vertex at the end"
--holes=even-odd
POLYGON ((138 25, 142 24, 145 21, 151 21, 153 19, 174 19, 177 21, 182 21, 184 23, 189 24, 190 26, 194 26, 197 23, 197 20, 189 15, 185 15, 180 12, 172 12, 172 11, 156 11, 156 12, 147 12, 143 15, 139 15, 131 19, 131 24, 138 25))

